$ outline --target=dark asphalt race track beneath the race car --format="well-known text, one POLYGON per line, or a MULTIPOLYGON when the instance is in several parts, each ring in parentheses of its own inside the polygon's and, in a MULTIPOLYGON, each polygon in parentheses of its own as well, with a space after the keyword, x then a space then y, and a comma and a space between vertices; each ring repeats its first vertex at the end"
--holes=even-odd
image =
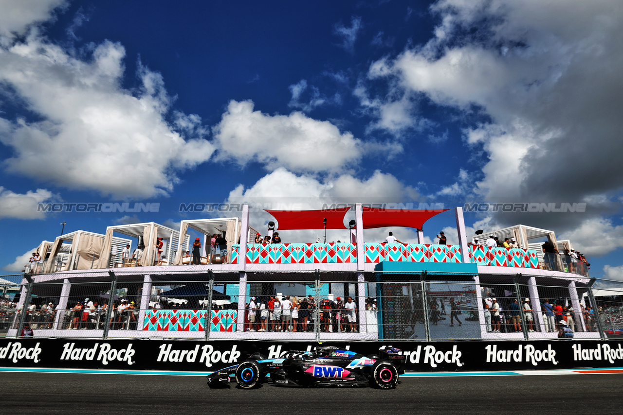
POLYGON ((2 414, 622 414, 623 375, 402 378, 397 388, 209 389, 203 376, 0 373, 2 414))

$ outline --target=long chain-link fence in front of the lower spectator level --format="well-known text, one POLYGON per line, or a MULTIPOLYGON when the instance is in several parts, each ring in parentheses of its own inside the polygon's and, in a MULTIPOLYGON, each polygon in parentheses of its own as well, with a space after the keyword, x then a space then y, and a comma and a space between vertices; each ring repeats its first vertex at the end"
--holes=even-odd
POLYGON ((600 288, 594 296, 593 283, 425 273, 292 273, 278 280, 273 273, 202 273, 183 281, 123 274, 0 286, 0 330, 318 341, 623 336, 621 289, 600 288))

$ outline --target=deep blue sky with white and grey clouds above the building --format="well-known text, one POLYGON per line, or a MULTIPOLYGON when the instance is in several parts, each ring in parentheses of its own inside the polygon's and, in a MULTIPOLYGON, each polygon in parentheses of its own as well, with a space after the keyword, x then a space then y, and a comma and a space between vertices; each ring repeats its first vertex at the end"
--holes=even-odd
MULTIPOLYGON (((19 271, 61 221, 99 233, 132 221, 175 227, 209 216, 179 213, 180 203, 260 198, 302 208, 584 202, 584 213, 466 221, 554 230, 589 256, 592 275, 622 279, 622 9, 0 0, 2 273, 19 271), (161 205, 37 213, 51 202, 161 205)), ((252 225, 268 219, 254 213, 252 225)), ((446 212, 425 234, 454 226, 446 212)))

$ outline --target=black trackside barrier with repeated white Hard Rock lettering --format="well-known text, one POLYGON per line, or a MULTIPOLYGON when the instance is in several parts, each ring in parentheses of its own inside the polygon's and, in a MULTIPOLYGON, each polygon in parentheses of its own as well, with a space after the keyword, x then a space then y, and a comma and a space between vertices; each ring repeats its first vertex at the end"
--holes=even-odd
MULTIPOLYGON (((503 371, 623 366, 623 340, 543 342, 330 342, 373 355, 392 345, 406 371, 503 371)), ((312 350, 315 342, 0 339, 0 366, 27 368, 205 371, 240 363, 253 353, 278 358, 312 350)))

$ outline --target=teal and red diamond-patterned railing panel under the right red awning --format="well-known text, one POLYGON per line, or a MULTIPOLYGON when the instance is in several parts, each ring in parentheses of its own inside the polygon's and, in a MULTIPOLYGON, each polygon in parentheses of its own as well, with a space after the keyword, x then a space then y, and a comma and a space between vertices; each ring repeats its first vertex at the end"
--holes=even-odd
POLYGON ((366 243, 366 263, 434 262, 460 263, 459 245, 424 245, 417 243, 366 243))

